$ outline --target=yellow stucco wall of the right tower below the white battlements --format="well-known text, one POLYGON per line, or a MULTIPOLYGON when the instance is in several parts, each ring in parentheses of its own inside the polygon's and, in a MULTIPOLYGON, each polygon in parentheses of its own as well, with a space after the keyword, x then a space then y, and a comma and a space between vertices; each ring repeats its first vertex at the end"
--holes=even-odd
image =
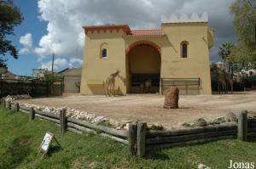
POLYGON ((170 43, 162 48, 162 78, 201 78, 201 94, 211 94, 208 26, 197 24, 164 24, 162 30, 170 43), (188 58, 181 57, 180 43, 189 42, 188 58))

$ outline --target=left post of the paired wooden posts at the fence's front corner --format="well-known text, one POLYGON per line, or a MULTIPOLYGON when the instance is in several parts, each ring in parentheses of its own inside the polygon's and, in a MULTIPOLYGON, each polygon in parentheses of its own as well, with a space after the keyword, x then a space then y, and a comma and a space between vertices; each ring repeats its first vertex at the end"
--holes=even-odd
POLYGON ((137 125, 130 123, 129 130, 128 130, 128 147, 131 155, 137 154, 136 138, 137 138, 137 125))

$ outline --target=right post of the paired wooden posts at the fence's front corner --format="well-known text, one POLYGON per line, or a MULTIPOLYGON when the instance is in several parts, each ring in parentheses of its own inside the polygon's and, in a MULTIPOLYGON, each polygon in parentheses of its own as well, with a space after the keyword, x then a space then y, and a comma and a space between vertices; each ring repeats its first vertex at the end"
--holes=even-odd
POLYGON ((138 157, 143 157, 145 155, 146 132, 147 132, 147 123, 138 122, 137 123, 137 156, 138 157))

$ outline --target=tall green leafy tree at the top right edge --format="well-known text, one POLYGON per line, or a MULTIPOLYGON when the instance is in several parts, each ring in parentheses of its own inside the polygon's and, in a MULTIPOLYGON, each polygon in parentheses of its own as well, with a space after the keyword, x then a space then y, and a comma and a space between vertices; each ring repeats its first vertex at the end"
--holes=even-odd
POLYGON ((232 50, 232 59, 250 63, 256 68, 256 7, 251 0, 236 0, 230 7, 238 42, 232 50))

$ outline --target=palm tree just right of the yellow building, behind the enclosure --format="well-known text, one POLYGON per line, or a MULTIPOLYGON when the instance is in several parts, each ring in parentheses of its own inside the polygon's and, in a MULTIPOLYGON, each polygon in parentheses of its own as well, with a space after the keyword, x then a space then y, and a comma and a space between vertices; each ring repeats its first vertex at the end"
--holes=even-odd
POLYGON ((224 42, 221 47, 219 47, 218 54, 224 61, 225 68, 230 73, 233 74, 233 60, 230 58, 231 50, 234 47, 232 42, 224 42))

